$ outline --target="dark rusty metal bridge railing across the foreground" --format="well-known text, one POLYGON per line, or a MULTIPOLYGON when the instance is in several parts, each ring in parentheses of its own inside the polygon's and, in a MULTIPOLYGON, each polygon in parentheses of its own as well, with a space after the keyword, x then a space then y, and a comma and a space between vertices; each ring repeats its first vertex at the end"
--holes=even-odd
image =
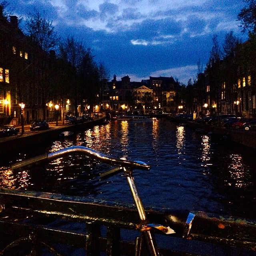
MULTIPOLYGON (((0 255, 13 255, 9 252, 22 245, 31 247, 35 253, 44 248, 53 255, 69 255, 58 252, 63 244, 84 248, 84 255, 97 256, 100 252, 110 256, 135 255, 134 239, 138 236, 140 218, 132 205, 6 189, 0 189, 0 205, 0 230, 6 238, 2 239, 0 244, 0 255), (122 230, 130 232, 128 237, 122 237, 122 230)), ((146 210, 146 215, 150 222, 166 224, 166 210, 146 210)), ((190 235, 187 239, 182 239, 184 247, 180 248, 180 251, 171 246, 176 236, 179 236, 178 233, 171 236, 160 232, 157 234, 161 236, 160 240, 166 240, 165 245, 160 248, 162 255, 203 255, 183 250, 190 247, 193 241, 236 246, 246 250, 244 255, 254 255, 255 221, 214 216, 203 212, 195 214, 190 235)), ((170 213, 169 215, 174 216, 170 213)), ((176 224, 173 223, 174 228, 176 224)), ((3 238, 3 234, 1 237, 3 238)), ((148 254, 145 249, 137 255, 148 254)))

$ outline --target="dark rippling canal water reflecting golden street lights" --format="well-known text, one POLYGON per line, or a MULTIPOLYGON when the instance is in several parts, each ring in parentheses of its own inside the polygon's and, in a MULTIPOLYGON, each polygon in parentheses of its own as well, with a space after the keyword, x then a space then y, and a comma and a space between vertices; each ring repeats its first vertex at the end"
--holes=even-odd
POLYGON ((20 150, 1 160, 0 186, 133 203, 122 174, 101 180, 99 174, 110 166, 80 154, 18 171, 10 168, 16 161, 74 145, 150 164, 149 171, 134 171, 145 206, 255 218, 256 151, 212 140, 163 118, 111 121, 72 138, 20 150))

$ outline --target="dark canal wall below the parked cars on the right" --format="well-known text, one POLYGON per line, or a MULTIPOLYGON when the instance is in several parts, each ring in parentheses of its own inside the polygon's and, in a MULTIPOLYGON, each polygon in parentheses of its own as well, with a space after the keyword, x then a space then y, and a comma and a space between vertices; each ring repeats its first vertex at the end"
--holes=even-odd
POLYGON ((166 118, 171 122, 182 123, 194 130, 202 129, 206 134, 211 133, 219 136, 226 136, 226 138, 232 142, 256 149, 256 132, 254 131, 244 131, 232 128, 216 127, 208 124, 199 124, 196 121, 180 120, 170 116, 166 116, 166 118))

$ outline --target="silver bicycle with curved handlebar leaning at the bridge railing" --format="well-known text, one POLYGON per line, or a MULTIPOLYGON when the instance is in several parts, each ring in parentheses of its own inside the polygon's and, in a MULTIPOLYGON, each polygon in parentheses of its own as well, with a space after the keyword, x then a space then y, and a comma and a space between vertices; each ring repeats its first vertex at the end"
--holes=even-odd
MULTIPOLYGON (((159 254, 156 240, 154 237, 153 228, 156 228, 157 230, 160 230, 165 234, 173 234, 176 231, 174 231, 169 226, 166 227, 161 224, 149 223, 146 218, 144 206, 142 204, 142 200, 136 188, 136 184, 133 176, 133 170, 135 169, 150 170, 151 168, 150 165, 141 161, 130 161, 130 160, 127 160, 126 158, 113 158, 84 146, 72 146, 72 147, 64 148, 62 150, 58 150, 56 152, 52 152, 52 153, 44 154, 41 156, 36 156, 28 160, 20 161, 16 164, 13 164, 12 169, 23 168, 24 166, 35 164, 37 162, 41 162, 44 160, 53 160, 55 158, 60 158, 64 155, 73 154, 73 153, 82 153, 94 160, 98 160, 102 163, 116 166, 115 168, 100 174, 100 178, 107 178, 109 176, 113 176, 120 172, 124 173, 124 176, 126 177, 128 185, 130 187, 130 191, 132 193, 132 197, 134 199, 134 202, 139 214, 140 225, 138 228, 142 233, 141 236, 136 238, 135 256, 140 255, 142 250, 142 244, 144 243, 144 241, 146 241, 147 248, 150 255, 159 256, 160 254, 159 254)), ((171 220, 172 223, 176 223, 177 232, 180 232, 183 238, 188 236, 192 226, 192 221, 194 219, 194 216, 195 214, 189 213, 188 216, 184 218, 184 221, 183 220, 180 221, 178 219, 171 220)))

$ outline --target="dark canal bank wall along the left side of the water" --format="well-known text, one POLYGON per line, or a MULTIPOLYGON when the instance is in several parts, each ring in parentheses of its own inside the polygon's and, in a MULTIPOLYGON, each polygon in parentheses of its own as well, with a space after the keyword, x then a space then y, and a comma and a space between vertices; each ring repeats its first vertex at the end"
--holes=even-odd
POLYGON ((87 130, 96 125, 102 124, 104 117, 90 120, 82 124, 49 124, 49 129, 44 131, 30 132, 29 126, 25 128, 24 134, 18 134, 16 136, 0 138, 0 154, 20 150, 21 148, 28 148, 30 146, 36 146, 45 142, 56 140, 59 134, 63 131, 79 132, 81 130, 87 130))

